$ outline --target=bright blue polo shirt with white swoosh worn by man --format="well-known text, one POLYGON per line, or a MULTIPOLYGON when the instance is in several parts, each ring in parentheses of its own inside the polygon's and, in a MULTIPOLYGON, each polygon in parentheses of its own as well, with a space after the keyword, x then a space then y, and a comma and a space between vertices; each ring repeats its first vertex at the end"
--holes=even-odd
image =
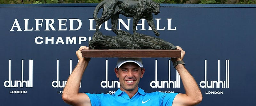
POLYGON ((130 97, 120 89, 117 89, 115 94, 90 94, 85 93, 89 96, 92 106, 171 106, 174 97, 178 93, 163 93, 163 92, 152 92, 146 93, 143 89, 138 92, 130 99, 130 97))

